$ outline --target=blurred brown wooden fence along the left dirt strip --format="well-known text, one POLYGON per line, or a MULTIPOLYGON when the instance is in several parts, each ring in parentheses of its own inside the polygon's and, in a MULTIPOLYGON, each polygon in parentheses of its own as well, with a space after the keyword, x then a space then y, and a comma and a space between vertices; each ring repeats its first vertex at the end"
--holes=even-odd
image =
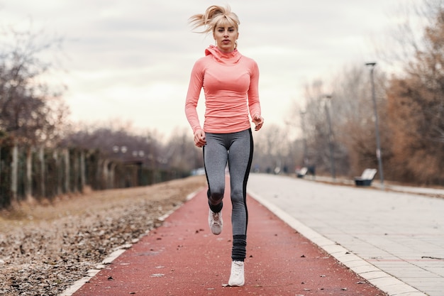
POLYGON ((0 209, 33 197, 52 199, 60 194, 151 185, 185 177, 174 170, 123 163, 99 150, 0 146, 0 209))

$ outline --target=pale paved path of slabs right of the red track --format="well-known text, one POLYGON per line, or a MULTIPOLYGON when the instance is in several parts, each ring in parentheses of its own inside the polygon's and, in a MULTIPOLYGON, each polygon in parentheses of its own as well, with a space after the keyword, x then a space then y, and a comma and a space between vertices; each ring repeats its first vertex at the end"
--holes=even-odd
POLYGON ((443 198, 262 174, 248 184, 277 216, 389 295, 444 295, 443 198))

